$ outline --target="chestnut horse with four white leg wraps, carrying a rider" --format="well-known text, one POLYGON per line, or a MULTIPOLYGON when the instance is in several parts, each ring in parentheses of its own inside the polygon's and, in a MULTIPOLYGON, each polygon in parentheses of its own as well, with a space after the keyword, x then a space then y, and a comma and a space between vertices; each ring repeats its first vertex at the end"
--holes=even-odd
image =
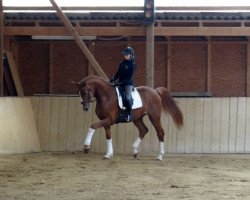
MULTIPOLYGON (((115 87, 97 76, 88 76, 80 82, 74 82, 81 97, 81 103, 85 111, 89 110, 89 104, 96 100, 96 115, 100 119, 88 129, 84 143, 84 152, 88 153, 91 144, 91 138, 94 131, 104 127, 106 132, 107 153, 105 159, 113 156, 112 138, 110 127, 117 123, 117 116, 120 111, 115 87)), ((164 130, 161 125, 161 108, 169 112, 176 126, 180 128, 183 125, 183 115, 175 100, 170 96, 168 90, 164 87, 152 89, 147 86, 136 87, 142 99, 142 107, 132 111, 132 121, 139 130, 139 137, 133 143, 133 156, 137 157, 138 147, 141 140, 148 132, 148 128, 143 122, 143 117, 148 115, 153 124, 159 139, 158 160, 162 160, 164 155, 164 130)))

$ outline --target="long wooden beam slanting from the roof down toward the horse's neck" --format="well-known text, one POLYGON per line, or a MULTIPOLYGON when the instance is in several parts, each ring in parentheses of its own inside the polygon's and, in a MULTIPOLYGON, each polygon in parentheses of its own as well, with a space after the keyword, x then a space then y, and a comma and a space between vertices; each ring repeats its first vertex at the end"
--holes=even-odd
POLYGON ((72 24, 70 23, 68 18, 65 16, 65 14, 62 12, 62 10, 59 8, 59 6, 56 4, 56 2, 54 0, 50 0, 50 2, 53 5, 54 9, 57 11, 58 17, 64 23, 64 25, 66 26, 69 33, 75 38, 76 43, 78 44, 78 46, 80 47, 80 49, 82 50, 82 52, 84 53, 84 55, 86 56, 88 61, 91 63, 91 66, 93 67, 93 69, 95 70, 97 75, 101 76, 102 78, 104 78, 106 80, 108 80, 108 77, 106 76, 106 74, 102 70, 101 66, 98 64, 98 62, 96 61, 94 56, 91 54, 88 47, 81 40, 81 38, 79 37, 77 31, 72 26, 72 24))

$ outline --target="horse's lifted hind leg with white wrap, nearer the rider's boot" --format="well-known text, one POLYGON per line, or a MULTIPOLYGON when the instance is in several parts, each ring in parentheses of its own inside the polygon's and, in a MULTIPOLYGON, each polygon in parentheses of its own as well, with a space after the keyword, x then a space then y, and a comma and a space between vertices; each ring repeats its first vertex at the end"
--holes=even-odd
POLYGON ((133 123, 139 130, 139 137, 136 138, 136 140, 133 143, 133 156, 134 156, 134 158, 137 158, 138 147, 139 147, 142 139, 144 138, 144 136, 147 134, 148 128, 146 127, 146 125, 143 122, 143 117, 133 121, 133 123))

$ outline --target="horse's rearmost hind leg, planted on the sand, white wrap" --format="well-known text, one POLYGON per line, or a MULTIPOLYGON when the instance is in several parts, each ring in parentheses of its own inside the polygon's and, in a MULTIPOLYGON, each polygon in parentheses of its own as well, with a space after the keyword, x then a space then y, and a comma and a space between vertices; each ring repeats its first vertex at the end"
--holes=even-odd
POLYGON ((162 128, 161 125, 161 119, 153 119, 151 117, 149 117, 150 121, 152 122, 156 132, 157 132, 157 136, 159 139, 159 155, 157 156, 157 160, 162 161, 162 157, 164 155, 164 130, 162 128))

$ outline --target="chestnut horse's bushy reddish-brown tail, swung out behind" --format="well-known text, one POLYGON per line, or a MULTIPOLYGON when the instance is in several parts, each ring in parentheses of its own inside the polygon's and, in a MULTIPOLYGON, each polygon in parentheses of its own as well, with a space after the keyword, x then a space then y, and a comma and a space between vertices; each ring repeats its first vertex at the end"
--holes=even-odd
POLYGON ((176 126, 181 128, 183 126, 183 115, 176 101, 166 88, 158 87, 155 90, 161 96, 164 111, 170 113, 176 126))

